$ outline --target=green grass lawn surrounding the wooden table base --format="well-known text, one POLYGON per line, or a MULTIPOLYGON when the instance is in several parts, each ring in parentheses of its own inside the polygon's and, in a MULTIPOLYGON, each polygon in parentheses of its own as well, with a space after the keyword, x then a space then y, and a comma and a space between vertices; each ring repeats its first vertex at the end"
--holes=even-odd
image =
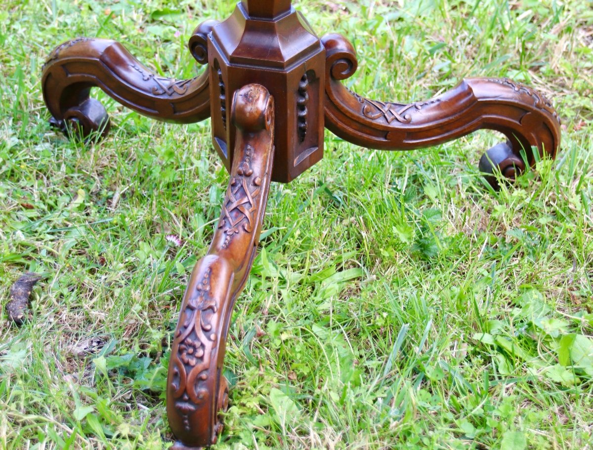
MULTIPOLYGON (((347 83, 423 100, 464 76, 549 95, 562 152, 498 193, 477 171, 500 136, 409 153, 326 135, 326 158, 273 184, 236 306, 218 449, 593 448, 593 9, 580 0, 302 0, 358 49, 347 83)), ((233 2, 2 1, 0 448, 161 449, 177 307, 227 174, 209 121, 118 106, 98 145, 47 125, 44 59, 114 37, 177 78, 185 43, 233 2), (165 236, 176 234, 180 246, 165 236), (4 312, 25 272, 31 317, 4 312)))

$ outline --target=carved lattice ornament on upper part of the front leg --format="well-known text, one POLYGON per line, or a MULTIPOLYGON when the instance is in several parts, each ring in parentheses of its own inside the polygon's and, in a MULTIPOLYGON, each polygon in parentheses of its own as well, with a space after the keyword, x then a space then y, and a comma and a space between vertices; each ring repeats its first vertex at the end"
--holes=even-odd
POLYGON ((253 147, 247 145, 237 176, 231 178, 227 190, 227 202, 222 207, 218 228, 222 228, 227 235, 222 248, 228 248, 232 237, 241 231, 246 233, 253 231, 254 212, 257 209, 257 197, 261 193, 262 179, 260 177, 252 179, 251 158, 253 158, 253 147))

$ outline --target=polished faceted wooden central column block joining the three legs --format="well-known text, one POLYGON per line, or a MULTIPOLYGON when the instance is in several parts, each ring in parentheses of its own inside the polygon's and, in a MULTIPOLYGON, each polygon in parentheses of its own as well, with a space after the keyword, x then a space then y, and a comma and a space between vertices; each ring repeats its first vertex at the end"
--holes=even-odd
MULTIPOLYGON (((299 12, 263 20, 250 17, 244 3, 212 28, 208 42, 213 143, 230 170, 228 143, 237 130, 228 118, 228 99, 246 84, 265 85, 281 125, 272 181, 288 183, 323 157, 324 47, 299 12)), ((271 3, 258 2, 260 13, 271 3)))

